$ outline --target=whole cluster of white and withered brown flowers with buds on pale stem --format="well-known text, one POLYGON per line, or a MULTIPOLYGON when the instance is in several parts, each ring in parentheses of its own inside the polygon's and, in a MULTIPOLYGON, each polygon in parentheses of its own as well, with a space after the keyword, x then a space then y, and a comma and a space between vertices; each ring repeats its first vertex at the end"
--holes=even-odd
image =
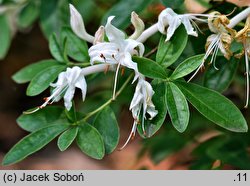
MULTIPOLYGON (((199 30, 199 28, 195 21, 207 23, 213 34, 207 38, 205 57, 191 79, 196 75, 200 68, 204 66, 205 60, 211 54, 211 62, 214 64, 218 50, 221 51, 225 58, 229 59, 233 55, 230 51, 230 46, 234 37, 244 45, 244 51, 242 54, 245 53, 246 72, 249 74, 248 57, 250 54, 250 18, 247 21, 246 27, 236 34, 236 31, 228 26, 229 19, 225 15, 221 15, 219 12, 213 12, 211 14, 176 14, 172 9, 167 8, 160 13, 158 22, 147 30, 144 30, 144 23, 139 16, 135 12, 132 12, 131 23, 135 29, 132 35, 126 36, 123 31, 116 28, 112 24, 112 20, 115 19, 115 17, 110 16, 107 19, 106 25, 100 26, 95 35, 92 36, 87 33, 83 19, 73 5, 70 5, 70 14, 70 24, 74 33, 79 38, 92 44, 88 50, 90 66, 86 68, 68 68, 66 72, 60 73, 57 82, 51 84, 51 86, 54 87, 51 96, 46 98, 45 102, 36 110, 45 107, 49 103, 59 101, 62 97, 64 98, 66 109, 70 110, 72 107, 75 88, 81 89, 83 101, 85 100, 87 92, 85 76, 91 73, 107 70, 115 71, 112 97, 114 100, 116 98, 119 70, 121 68, 132 69, 135 74, 133 83, 137 81, 135 93, 130 104, 134 123, 131 133, 122 148, 124 148, 130 139, 135 136, 138 124, 142 125, 142 130, 146 135, 144 120, 151 120, 158 114, 158 111, 152 102, 154 90, 151 84, 147 82, 145 77, 139 72, 137 63, 135 63, 132 58, 134 55, 139 57, 143 56, 145 50, 143 41, 155 32, 159 31, 162 34, 166 34, 166 42, 168 42, 171 40, 176 29, 183 24, 188 35, 197 37, 197 30, 199 30), (149 116, 149 118, 147 118, 146 115, 149 116)), ((249 92, 249 78, 247 78, 247 84, 247 90, 249 92)))

